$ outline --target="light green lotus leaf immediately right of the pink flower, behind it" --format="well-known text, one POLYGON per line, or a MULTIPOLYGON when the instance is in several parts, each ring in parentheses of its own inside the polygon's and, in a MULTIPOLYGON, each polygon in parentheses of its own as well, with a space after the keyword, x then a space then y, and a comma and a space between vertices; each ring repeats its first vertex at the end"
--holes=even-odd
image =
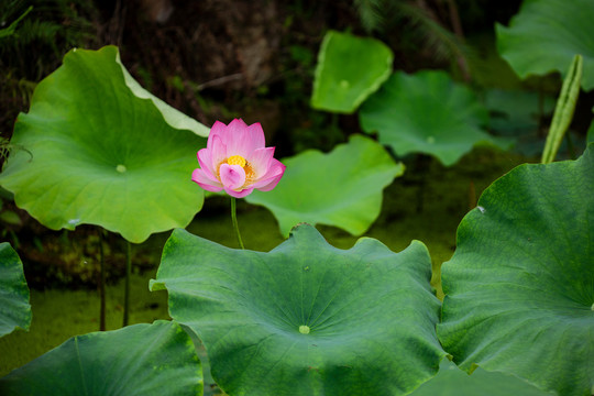
POLYGON ((362 135, 351 136, 329 154, 309 150, 283 164, 287 168, 274 190, 245 198, 268 208, 283 235, 299 222, 336 226, 361 235, 380 216, 384 187, 404 173, 403 164, 362 135))

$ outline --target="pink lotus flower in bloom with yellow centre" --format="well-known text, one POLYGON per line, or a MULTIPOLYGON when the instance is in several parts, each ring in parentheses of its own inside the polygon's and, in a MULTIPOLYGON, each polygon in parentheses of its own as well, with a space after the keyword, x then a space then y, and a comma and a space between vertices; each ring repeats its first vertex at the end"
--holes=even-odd
POLYGON ((226 125, 216 121, 208 135, 207 147, 198 151, 200 168, 191 179, 208 191, 222 189, 243 198, 254 188, 270 191, 285 173, 285 165, 273 158, 274 147, 264 146, 260 123, 245 124, 233 120, 226 125))

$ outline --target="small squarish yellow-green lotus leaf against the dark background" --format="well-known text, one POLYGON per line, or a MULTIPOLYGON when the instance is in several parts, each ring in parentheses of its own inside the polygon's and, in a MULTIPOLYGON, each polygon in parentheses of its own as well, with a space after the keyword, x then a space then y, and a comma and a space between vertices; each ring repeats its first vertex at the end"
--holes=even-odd
POLYGON ((389 77, 393 59, 381 41, 328 31, 318 54, 311 107, 352 113, 389 77))

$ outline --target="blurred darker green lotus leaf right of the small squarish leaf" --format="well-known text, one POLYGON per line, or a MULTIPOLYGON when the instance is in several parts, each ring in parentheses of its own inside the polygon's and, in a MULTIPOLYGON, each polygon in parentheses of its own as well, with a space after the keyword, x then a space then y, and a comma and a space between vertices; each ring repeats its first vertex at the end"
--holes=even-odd
POLYGON ((444 72, 394 73, 363 103, 359 117, 363 130, 377 132, 397 155, 426 153, 446 166, 475 144, 502 144, 481 129, 487 110, 444 72))

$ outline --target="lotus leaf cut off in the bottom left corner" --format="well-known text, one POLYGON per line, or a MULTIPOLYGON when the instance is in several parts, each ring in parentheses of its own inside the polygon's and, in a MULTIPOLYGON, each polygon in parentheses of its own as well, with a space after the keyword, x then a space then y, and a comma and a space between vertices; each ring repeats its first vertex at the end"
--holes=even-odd
POLYGON ((202 370, 179 324, 156 321, 76 336, 0 378, 10 396, 202 395, 202 370))

